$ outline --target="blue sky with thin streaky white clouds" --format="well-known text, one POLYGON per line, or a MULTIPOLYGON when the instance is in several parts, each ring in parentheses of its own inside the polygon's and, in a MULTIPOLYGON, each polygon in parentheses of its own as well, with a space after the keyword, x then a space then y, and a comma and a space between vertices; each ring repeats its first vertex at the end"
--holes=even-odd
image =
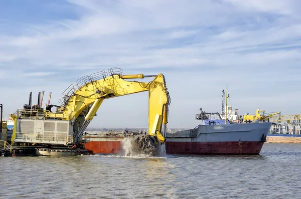
MULTIPOLYGON (((51 104, 77 79, 118 67, 163 73, 170 128, 220 112, 222 90, 239 114, 300 114, 300 1, 0 0, 4 116, 33 92, 51 104)), ((148 82, 151 79, 141 79, 148 82)), ((148 93, 105 100, 89 127, 147 127, 148 93)))

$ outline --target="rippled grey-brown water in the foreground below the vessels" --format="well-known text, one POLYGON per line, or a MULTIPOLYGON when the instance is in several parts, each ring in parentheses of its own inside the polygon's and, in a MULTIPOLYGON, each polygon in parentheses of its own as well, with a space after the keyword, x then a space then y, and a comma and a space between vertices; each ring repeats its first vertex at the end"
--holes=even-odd
POLYGON ((0 157, 0 198, 300 198, 301 144, 258 156, 0 157))

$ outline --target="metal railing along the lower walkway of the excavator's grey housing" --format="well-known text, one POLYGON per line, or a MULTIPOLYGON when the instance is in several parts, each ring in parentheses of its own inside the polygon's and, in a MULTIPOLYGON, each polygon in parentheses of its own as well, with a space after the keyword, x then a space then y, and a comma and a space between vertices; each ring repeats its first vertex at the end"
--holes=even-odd
POLYGON ((22 133, 17 132, 16 133, 16 139, 15 141, 18 142, 18 140, 22 140, 24 142, 32 142, 32 143, 72 143, 73 142, 73 136, 71 135, 62 135, 62 134, 56 134, 54 133, 44 133, 43 135, 33 135, 29 133, 22 133))

